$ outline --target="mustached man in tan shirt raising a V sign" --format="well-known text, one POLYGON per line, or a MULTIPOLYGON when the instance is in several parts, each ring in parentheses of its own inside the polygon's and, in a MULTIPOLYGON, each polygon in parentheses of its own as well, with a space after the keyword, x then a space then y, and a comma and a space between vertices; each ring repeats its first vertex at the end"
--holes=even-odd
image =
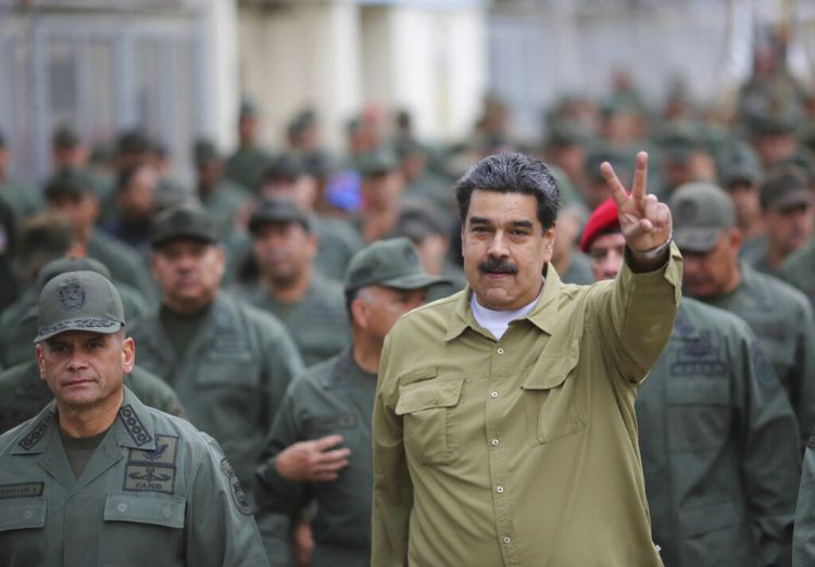
POLYGON ((468 287, 401 317, 383 348, 372 565, 661 565, 634 402, 670 335, 681 259, 647 167, 642 152, 629 197, 603 164, 626 262, 590 287, 548 262, 546 165, 502 153, 459 181, 468 287))

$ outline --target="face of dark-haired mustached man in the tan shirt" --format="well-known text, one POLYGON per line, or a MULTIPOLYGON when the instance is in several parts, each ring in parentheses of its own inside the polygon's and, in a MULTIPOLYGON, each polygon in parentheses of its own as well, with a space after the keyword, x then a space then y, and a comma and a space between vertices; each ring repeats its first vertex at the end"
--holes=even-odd
POLYGON ((462 255, 467 282, 485 307, 518 310, 540 293, 554 227, 543 230, 537 204, 531 194, 473 191, 462 255))

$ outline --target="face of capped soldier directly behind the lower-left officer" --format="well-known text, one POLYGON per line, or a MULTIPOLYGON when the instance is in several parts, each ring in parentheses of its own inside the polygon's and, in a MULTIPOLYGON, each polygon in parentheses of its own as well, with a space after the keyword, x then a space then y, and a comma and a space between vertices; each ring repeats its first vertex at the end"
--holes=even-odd
POLYGON ((181 239, 156 250, 151 264, 164 304, 177 313, 196 313, 217 295, 225 255, 221 247, 181 239))

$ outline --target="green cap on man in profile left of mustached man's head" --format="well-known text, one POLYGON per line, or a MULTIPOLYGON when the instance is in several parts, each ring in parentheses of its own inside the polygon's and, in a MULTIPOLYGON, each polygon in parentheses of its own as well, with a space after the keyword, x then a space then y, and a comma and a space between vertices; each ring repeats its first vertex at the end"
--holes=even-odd
POLYGON ((418 253, 406 238, 378 240, 353 255, 346 269, 346 291, 367 286, 422 289, 449 280, 427 274, 418 253))

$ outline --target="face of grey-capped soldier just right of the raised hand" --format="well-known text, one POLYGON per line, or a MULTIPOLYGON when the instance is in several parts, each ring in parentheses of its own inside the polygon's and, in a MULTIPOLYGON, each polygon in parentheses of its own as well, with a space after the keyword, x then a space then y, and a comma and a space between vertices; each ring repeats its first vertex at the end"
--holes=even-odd
POLYGON ((682 250, 685 291, 695 298, 712 298, 732 291, 739 282, 739 244, 737 229, 719 236, 713 250, 700 254, 682 250))

